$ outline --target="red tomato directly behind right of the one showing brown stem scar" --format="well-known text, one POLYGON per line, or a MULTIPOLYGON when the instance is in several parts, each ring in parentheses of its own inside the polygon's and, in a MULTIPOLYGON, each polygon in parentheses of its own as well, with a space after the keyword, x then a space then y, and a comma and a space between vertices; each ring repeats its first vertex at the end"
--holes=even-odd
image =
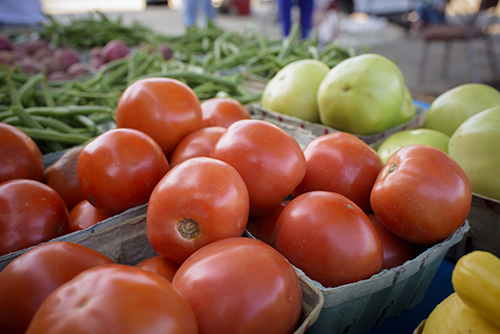
POLYGON ((241 120, 220 137, 212 158, 240 173, 250 194, 250 216, 264 215, 290 195, 306 172, 304 153, 295 139, 261 120, 241 120))

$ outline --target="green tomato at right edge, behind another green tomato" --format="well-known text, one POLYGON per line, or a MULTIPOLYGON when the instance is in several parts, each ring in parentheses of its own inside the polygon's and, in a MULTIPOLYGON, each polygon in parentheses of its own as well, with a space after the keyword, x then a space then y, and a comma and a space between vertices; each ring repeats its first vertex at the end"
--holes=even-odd
POLYGON ((452 88, 432 102, 425 115, 424 127, 447 134, 453 132, 466 119, 500 105, 500 92, 478 83, 468 83, 452 88))

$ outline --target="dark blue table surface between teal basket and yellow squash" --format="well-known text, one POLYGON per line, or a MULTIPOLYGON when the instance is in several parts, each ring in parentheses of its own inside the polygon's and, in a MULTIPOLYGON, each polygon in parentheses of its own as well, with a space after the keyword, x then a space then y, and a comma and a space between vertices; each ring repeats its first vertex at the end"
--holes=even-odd
POLYGON ((420 322, 429 316, 434 307, 453 293, 451 274, 454 268, 455 262, 445 258, 420 304, 403 312, 399 317, 385 319, 379 328, 371 330, 369 334, 413 333, 420 322))

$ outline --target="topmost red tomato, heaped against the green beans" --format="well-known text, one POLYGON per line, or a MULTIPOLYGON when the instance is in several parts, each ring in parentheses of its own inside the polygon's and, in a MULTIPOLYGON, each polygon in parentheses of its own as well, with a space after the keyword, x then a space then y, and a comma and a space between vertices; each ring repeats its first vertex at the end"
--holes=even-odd
POLYGON ((116 126, 147 133, 170 156, 182 138, 202 127, 200 100, 179 80, 138 80, 120 96, 116 126))

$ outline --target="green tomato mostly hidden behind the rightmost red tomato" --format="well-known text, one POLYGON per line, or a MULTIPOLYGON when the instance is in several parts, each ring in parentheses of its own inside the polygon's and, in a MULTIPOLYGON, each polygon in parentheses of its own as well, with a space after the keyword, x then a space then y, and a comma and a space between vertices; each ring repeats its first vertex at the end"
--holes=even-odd
POLYGON ((389 157, 403 146, 429 145, 448 153, 450 137, 436 130, 414 129, 396 132, 380 144, 377 153, 387 163, 389 157))

